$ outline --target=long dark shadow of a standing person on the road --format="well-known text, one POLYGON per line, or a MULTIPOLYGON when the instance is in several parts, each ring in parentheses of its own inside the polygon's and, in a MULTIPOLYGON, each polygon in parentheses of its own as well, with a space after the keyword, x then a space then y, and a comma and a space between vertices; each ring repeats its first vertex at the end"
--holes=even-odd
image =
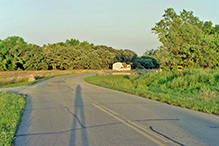
POLYGON ((85 126, 86 124, 85 124, 85 116, 84 116, 84 105, 83 105, 83 99, 81 96, 80 85, 78 85, 76 88, 75 102, 74 102, 74 117, 73 117, 73 123, 72 123, 71 129, 77 129, 77 125, 81 127, 81 130, 71 131, 69 146, 77 145, 76 139, 81 140, 83 146, 89 146, 88 139, 87 139, 87 130, 85 126))

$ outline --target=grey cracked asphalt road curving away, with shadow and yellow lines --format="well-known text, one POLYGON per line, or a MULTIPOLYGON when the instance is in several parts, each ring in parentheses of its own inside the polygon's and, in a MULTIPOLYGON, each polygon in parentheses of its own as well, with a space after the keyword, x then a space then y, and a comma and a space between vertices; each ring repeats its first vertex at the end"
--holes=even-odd
POLYGON ((90 85, 90 75, 0 89, 27 94, 14 145, 219 145, 219 116, 90 85))

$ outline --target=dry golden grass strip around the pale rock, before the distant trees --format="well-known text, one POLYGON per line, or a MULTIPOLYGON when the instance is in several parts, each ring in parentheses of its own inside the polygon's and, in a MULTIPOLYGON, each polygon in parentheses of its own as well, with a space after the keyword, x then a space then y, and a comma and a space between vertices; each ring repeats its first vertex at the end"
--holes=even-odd
POLYGON ((23 85, 31 85, 42 79, 72 75, 98 72, 96 70, 65 70, 65 71, 8 71, 0 72, 0 88, 18 87, 23 85), (28 82, 30 75, 33 74, 36 81, 28 82))

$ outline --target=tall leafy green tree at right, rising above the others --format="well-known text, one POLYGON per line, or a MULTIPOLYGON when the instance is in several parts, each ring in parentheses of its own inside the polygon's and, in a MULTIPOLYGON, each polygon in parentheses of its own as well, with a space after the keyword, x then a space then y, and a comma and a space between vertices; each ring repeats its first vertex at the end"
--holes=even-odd
POLYGON ((187 68, 219 67, 219 25, 201 21, 192 11, 177 14, 173 8, 164 11, 163 19, 152 28, 161 46, 144 53, 155 58, 161 68, 177 65, 187 68))

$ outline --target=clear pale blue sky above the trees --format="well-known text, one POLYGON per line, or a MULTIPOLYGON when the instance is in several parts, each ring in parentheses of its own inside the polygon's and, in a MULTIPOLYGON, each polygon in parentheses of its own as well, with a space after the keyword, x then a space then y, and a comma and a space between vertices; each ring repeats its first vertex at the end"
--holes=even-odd
POLYGON ((151 28, 167 8, 219 24, 218 0, 0 0, 0 39, 42 46, 74 38, 141 56, 160 45, 151 28))

